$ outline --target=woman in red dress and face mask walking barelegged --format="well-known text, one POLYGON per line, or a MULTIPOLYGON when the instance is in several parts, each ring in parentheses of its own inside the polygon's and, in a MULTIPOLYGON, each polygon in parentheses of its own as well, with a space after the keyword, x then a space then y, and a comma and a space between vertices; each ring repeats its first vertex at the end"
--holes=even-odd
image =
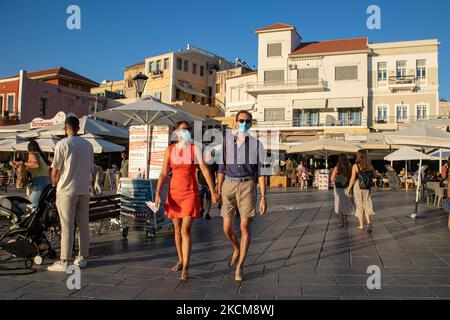
POLYGON ((181 280, 189 279, 189 262, 192 249, 191 226, 193 219, 200 218, 200 197, 197 183, 197 166, 202 171, 209 189, 211 199, 217 203, 219 196, 214 191, 214 183, 199 147, 191 143, 191 127, 181 121, 176 126, 177 143, 170 145, 164 155, 164 163, 156 188, 155 204, 161 204, 161 189, 172 170, 164 210, 172 219, 175 229, 175 245, 178 263, 172 267, 173 272, 183 270, 181 280))

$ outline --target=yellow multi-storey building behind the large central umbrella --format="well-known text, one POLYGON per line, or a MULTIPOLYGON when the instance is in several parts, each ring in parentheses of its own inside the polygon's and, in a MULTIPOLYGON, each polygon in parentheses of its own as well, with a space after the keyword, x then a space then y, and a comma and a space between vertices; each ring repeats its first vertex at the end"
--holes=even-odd
POLYGON ((215 104, 216 74, 234 64, 206 50, 188 45, 186 49, 145 59, 125 69, 125 95, 136 97, 133 77, 148 77, 143 96, 176 105, 200 117, 217 117, 223 111, 215 104))

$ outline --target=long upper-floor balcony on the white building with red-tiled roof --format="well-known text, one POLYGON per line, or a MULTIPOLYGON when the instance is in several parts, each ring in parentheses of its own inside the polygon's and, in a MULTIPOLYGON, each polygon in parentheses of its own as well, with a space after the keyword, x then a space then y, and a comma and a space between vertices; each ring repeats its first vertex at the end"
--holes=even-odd
POLYGON ((266 93, 322 92, 327 89, 328 82, 323 79, 254 82, 246 86, 247 93, 252 96, 266 93))

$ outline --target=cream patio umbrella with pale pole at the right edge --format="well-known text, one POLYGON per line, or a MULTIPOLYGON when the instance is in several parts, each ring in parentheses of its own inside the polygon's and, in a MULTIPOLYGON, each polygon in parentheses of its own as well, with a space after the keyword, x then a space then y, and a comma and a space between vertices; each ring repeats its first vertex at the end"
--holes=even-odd
MULTIPOLYGON (((439 129, 420 124, 412 128, 401 130, 395 133, 386 134, 384 139, 387 144, 420 147, 423 155, 424 148, 450 148, 450 134, 439 129)), ((416 205, 411 218, 417 218, 419 209, 419 196, 422 183, 422 160, 419 162, 419 178, 416 189, 416 205)))

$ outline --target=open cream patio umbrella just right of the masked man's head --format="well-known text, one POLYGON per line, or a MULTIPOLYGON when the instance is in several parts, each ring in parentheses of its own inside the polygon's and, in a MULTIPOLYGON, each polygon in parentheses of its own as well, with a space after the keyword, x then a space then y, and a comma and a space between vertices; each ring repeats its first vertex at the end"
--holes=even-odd
POLYGON ((341 153, 356 153, 359 147, 341 140, 320 139, 302 143, 300 145, 289 147, 288 154, 303 153, 320 155, 325 158, 328 168, 328 157, 341 153))

